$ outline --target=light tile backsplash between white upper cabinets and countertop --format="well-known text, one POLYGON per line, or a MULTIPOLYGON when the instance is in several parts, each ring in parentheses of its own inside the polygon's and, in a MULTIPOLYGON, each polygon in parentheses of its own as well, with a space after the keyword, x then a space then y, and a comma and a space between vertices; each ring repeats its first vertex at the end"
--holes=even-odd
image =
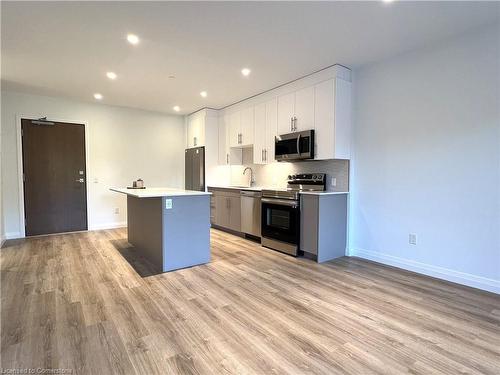
POLYGON ((231 185, 248 185, 250 174, 247 172, 243 175, 247 166, 254 172, 256 186, 285 188, 288 175, 318 172, 326 173, 327 190, 349 191, 349 160, 310 160, 258 165, 253 164, 253 152, 248 149, 243 151, 243 165, 230 167, 231 185), (331 185, 332 177, 336 179, 336 186, 331 185))

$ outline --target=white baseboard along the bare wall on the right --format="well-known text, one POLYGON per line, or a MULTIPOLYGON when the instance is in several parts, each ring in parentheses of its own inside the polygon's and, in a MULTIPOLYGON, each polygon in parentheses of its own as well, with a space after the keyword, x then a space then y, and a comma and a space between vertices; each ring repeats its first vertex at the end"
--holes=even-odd
POLYGON ((399 258, 393 255, 378 253, 370 250, 350 249, 349 256, 372 260, 389 266, 403 268, 408 271, 500 294, 500 280, 489 279, 482 276, 472 275, 470 273, 433 266, 431 264, 421 263, 411 259, 399 258))

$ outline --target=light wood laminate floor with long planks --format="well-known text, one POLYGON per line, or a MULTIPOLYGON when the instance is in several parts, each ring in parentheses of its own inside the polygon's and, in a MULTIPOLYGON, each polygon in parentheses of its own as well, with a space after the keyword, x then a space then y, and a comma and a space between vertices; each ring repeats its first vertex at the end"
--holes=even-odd
POLYGON ((204 266, 155 274, 136 254, 125 229, 8 242, 1 367, 500 373, 498 295, 356 258, 318 265, 216 230, 204 266))

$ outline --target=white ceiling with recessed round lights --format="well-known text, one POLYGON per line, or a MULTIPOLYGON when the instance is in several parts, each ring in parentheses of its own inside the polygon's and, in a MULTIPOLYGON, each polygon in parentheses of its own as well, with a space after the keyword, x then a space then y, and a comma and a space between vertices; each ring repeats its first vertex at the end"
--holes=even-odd
POLYGON ((4 89, 85 101, 99 92, 104 104, 190 113, 499 22, 500 3, 2 1, 1 10, 4 89))

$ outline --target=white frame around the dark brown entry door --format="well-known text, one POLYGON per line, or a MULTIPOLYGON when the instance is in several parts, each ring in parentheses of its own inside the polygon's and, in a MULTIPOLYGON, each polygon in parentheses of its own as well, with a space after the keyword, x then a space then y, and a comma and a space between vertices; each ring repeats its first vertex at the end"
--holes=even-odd
POLYGON ((18 202, 19 202, 19 237, 26 237, 25 212, 24 212, 24 181, 23 181, 23 139, 22 139, 22 119, 35 120, 47 116, 48 121, 66 122, 70 124, 83 125, 85 137, 85 205, 87 206, 87 230, 91 228, 90 205, 89 205, 89 123, 86 120, 68 120, 60 117, 52 117, 46 113, 37 114, 16 114, 16 140, 17 140, 17 183, 18 183, 18 202))

